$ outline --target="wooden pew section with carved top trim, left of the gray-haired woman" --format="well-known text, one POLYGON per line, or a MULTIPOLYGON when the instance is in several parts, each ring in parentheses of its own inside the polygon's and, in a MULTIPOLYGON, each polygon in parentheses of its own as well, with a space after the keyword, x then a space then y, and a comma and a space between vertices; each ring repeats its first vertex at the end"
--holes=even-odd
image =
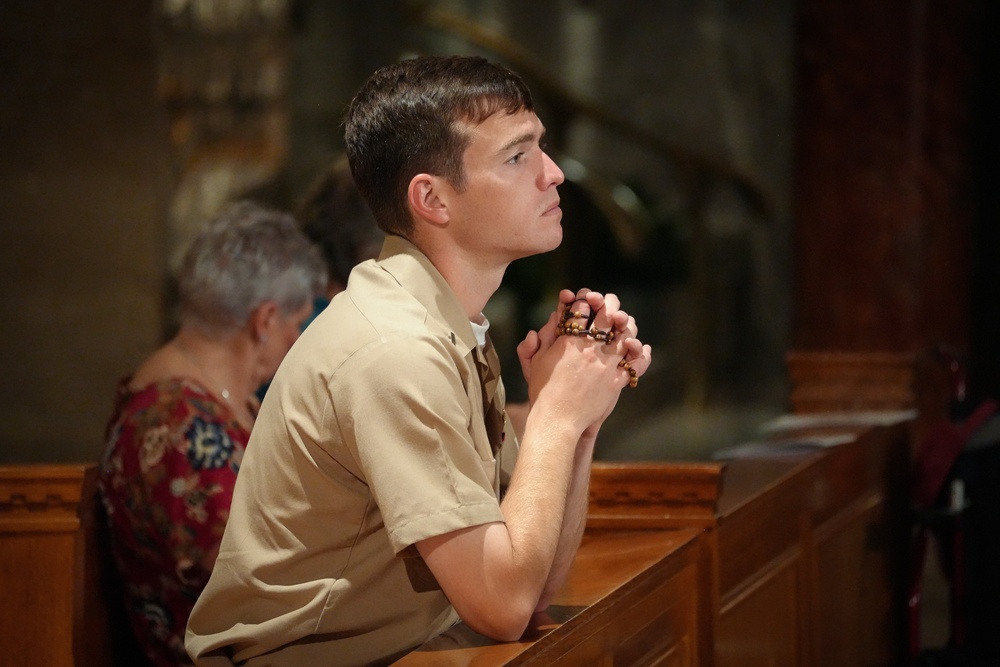
POLYGON ((9 665, 143 664, 93 464, 0 466, 0 651, 9 665))

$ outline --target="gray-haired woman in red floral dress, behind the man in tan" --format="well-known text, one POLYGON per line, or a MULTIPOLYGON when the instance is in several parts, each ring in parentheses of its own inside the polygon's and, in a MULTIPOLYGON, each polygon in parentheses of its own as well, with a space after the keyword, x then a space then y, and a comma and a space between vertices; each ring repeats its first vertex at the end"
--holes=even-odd
POLYGON ((300 229, 252 202, 210 223, 179 269, 177 334, 118 387, 100 489, 129 618, 154 665, 190 663, 184 627, 218 554, 255 390, 326 287, 300 229))

